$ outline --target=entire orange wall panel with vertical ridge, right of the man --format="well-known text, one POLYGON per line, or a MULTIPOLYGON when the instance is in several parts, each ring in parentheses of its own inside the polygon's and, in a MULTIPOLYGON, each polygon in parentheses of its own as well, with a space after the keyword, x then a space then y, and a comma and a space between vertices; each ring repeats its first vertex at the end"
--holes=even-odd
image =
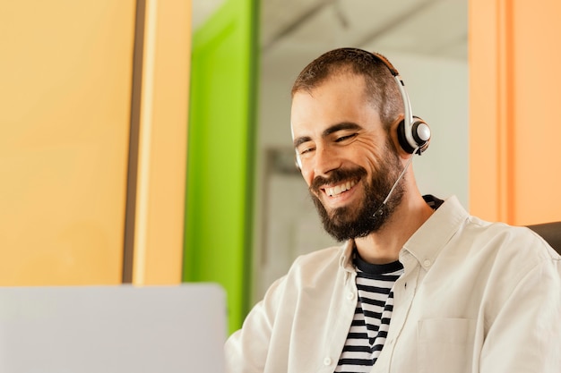
POLYGON ((470 210, 561 220, 561 3, 470 0, 470 210))

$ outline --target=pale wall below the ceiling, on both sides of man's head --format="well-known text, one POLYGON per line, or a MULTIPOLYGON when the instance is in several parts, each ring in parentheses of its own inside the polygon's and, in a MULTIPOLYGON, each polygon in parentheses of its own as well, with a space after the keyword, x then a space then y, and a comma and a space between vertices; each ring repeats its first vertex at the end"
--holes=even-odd
MULTIPOLYGON (((375 50, 375 49, 371 49, 375 50)), ((414 160, 422 193, 446 198, 456 195, 468 206, 468 64, 421 55, 377 51, 400 71, 413 114, 433 131, 430 147, 414 160)), ((315 56, 314 56, 315 57, 315 56)), ((312 57, 312 58, 314 58, 312 57)), ((255 300, 273 279, 283 275, 295 257, 332 242, 322 232, 315 208, 299 176, 271 174, 266 169, 268 149, 292 150, 290 138, 290 88, 310 58, 280 69, 263 58, 255 237, 255 300), (298 66, 298 67, 296 67, 298 66), (269 174, 267 174, 269 173, 269 174), (268 176, 267 176, 268 175, 268 176)))

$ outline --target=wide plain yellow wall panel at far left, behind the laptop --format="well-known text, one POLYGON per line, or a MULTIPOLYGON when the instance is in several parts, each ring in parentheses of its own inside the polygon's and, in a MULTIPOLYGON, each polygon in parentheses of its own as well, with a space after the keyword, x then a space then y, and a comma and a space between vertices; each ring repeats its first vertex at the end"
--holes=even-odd
POLYGON ((2 4, 0 284, 121 280, 134 5, 2 4))

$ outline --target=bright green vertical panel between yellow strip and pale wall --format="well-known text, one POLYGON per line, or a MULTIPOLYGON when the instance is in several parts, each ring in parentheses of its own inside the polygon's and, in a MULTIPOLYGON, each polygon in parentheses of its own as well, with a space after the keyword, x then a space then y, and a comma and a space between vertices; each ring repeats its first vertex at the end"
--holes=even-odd
POLYGON ((193 39, 184 281, 226 289, 230 331, 252 273, 257 14, 256 0, 229 0, 193 39))

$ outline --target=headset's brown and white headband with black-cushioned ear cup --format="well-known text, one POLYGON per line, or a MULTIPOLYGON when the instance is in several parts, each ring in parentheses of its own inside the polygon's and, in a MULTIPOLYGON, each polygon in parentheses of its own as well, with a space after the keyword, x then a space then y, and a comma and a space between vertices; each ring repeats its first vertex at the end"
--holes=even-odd
POLYGON ((400 73, 393 67, 393 64, 391 64, 384 55, 379 55, 375 52, 369 53, 374 55, 378 61, 382 62, 385 67, 388 68, 400 91, 404 106, 404 118, 397 127, 397 138, 401 148, 410 154, 416 153, 420 155, 428 148, 430 142, 430 127, 428 127, 425 121, 411 113, 411 104, 407 91, 405 90, 405 84, 403 84, 400 73))

